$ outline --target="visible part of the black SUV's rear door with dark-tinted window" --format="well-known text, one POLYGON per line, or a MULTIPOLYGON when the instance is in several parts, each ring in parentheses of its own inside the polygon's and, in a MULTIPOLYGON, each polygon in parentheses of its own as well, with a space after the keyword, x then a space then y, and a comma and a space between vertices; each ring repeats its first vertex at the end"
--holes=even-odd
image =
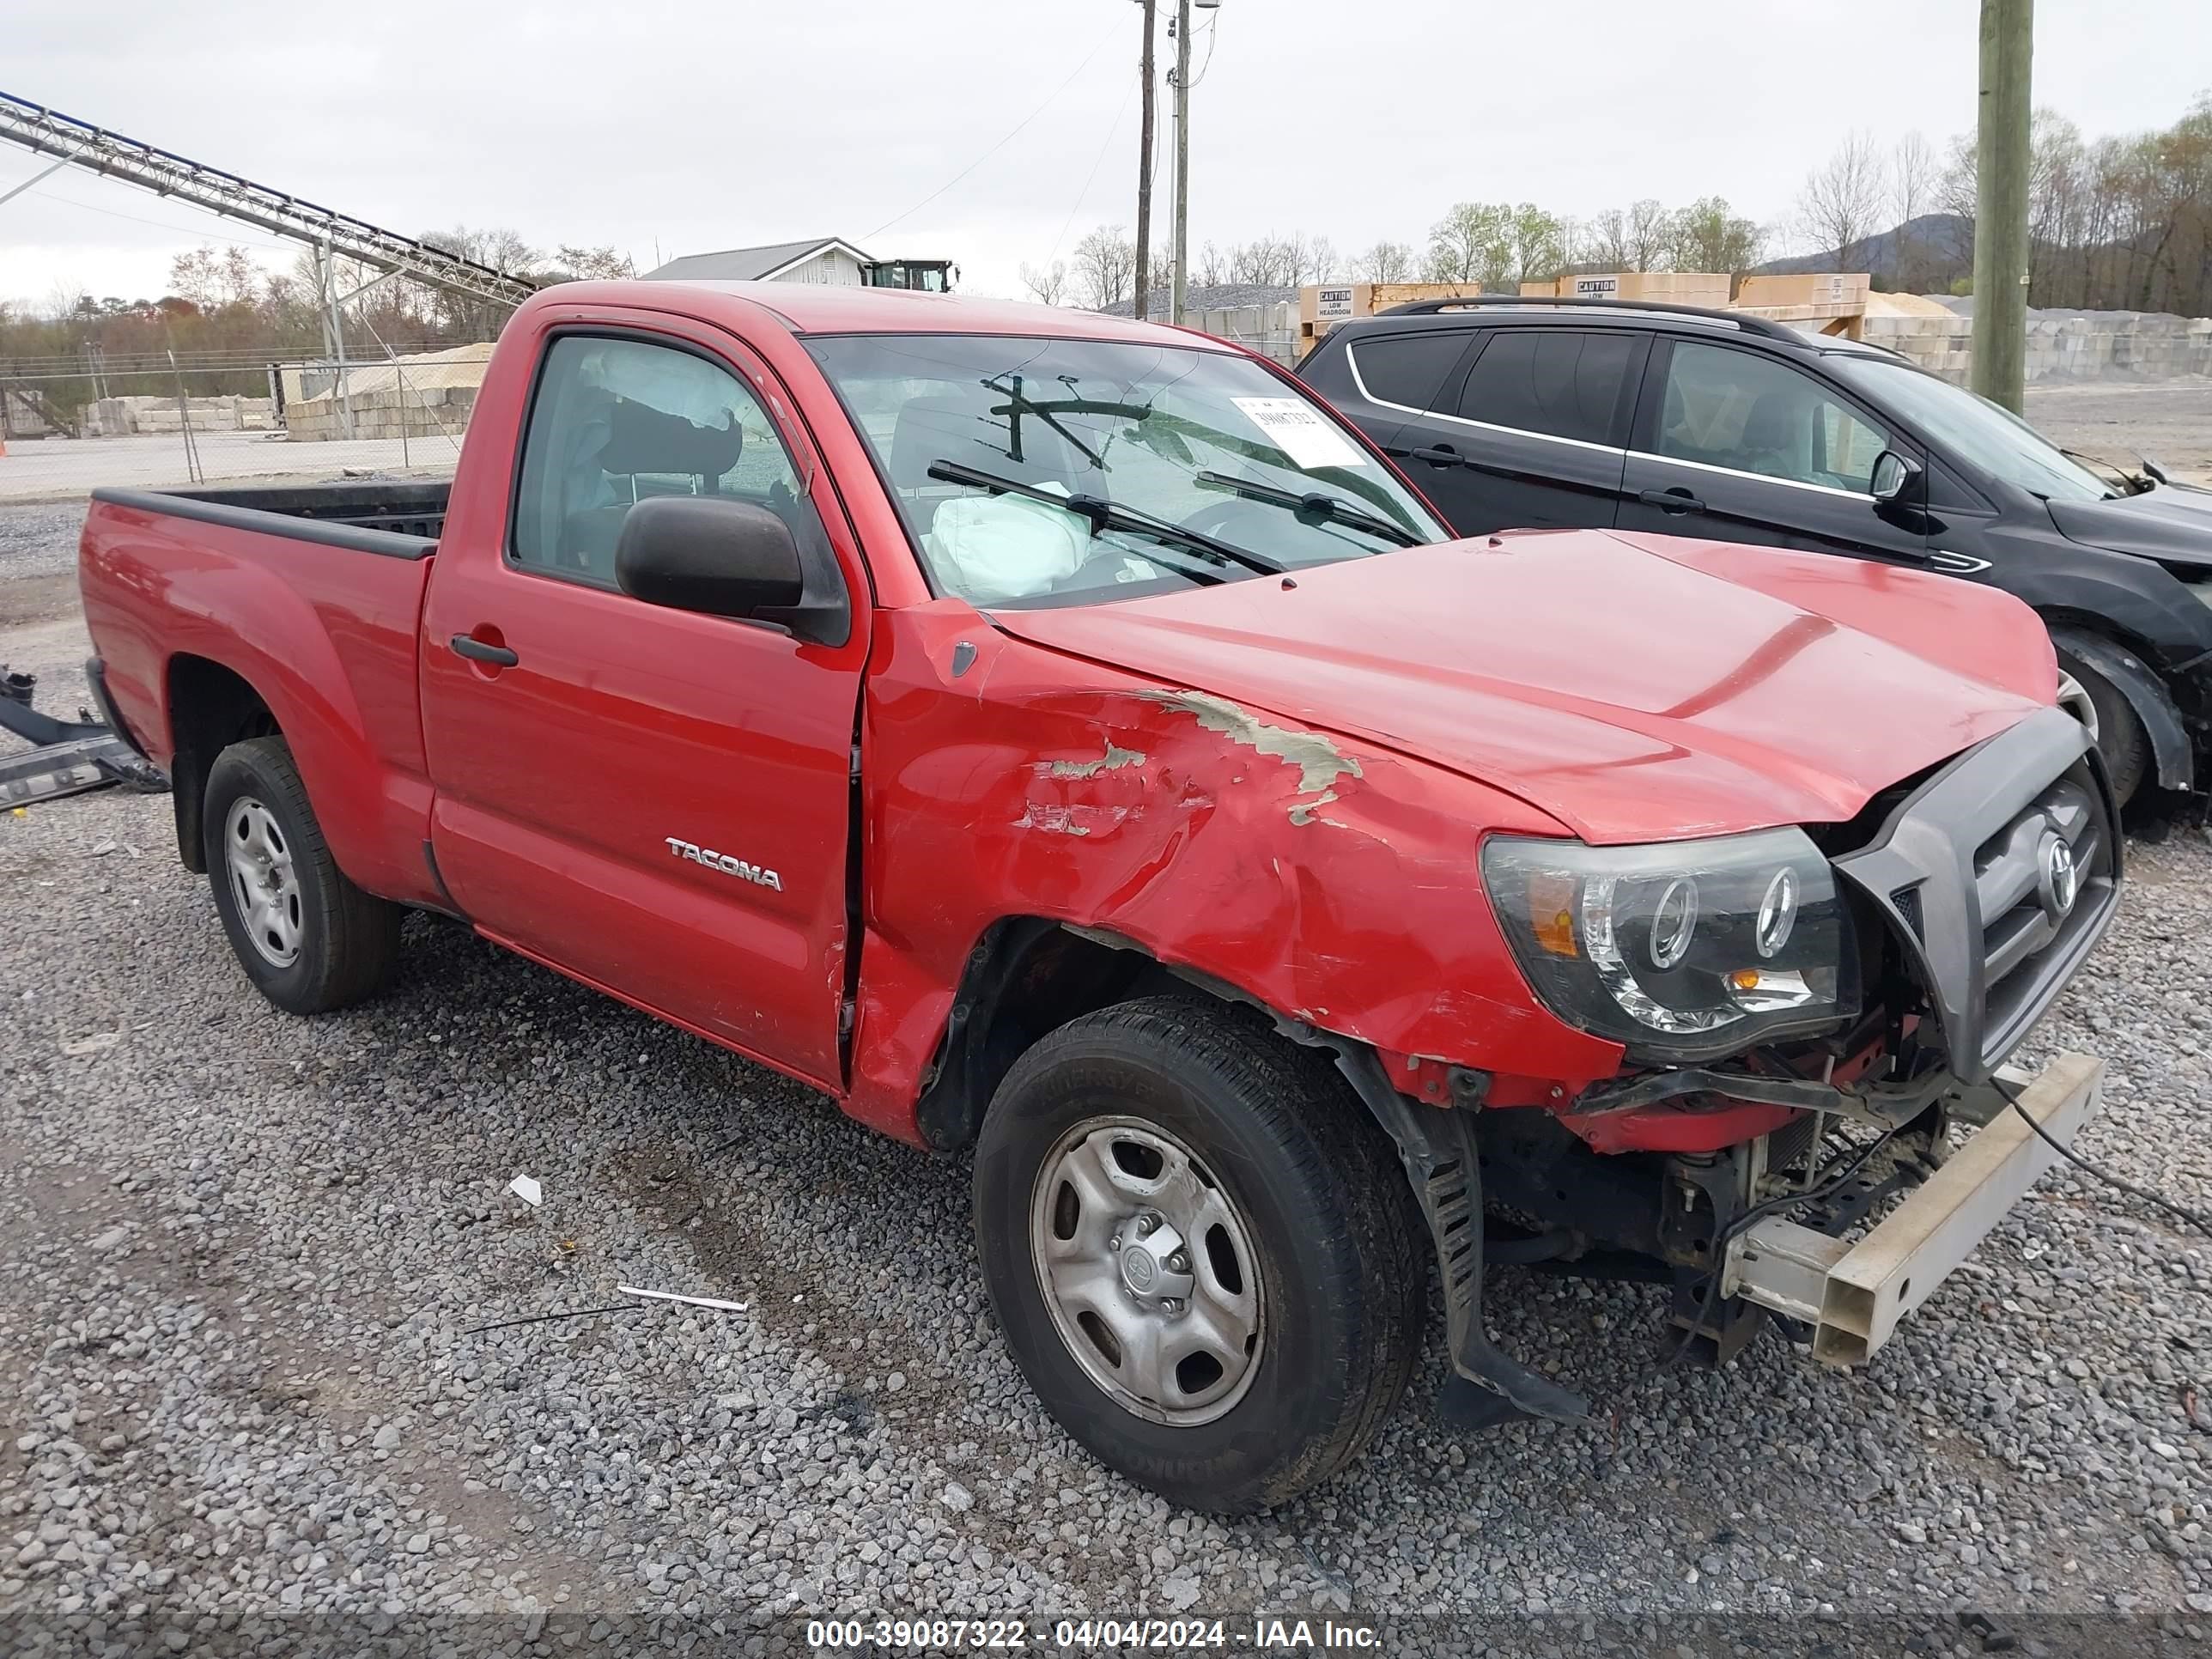
POLYGON ((1551 325, 1486 327, 1475 341, 1464 378, 1409 414, 1391 456, 1460 535, 1610 529, 1646 341, 1551 325))

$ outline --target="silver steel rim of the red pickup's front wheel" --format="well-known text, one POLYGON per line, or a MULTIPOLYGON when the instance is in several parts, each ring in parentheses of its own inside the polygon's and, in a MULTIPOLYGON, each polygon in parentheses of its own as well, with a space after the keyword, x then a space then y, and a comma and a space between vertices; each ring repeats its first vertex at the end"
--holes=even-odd
POLYGON ((1265 1356, 1252 1230, 1190 1148, 1135 1117, 1091 1117, 1040 1166, 1029 1250, 1060 1340, 1148 1422, 1230 1411, 1265 1356))

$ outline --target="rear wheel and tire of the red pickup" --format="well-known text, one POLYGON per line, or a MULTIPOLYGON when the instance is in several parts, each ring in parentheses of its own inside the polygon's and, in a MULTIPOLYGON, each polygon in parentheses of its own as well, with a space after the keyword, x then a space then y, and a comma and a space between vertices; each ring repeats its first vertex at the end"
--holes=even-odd
POLYGON ((327 1013, 392 982, 405 911, 338 869, 281 737, 215 757, 199 827, 215 909, 261 995, 327 1013))

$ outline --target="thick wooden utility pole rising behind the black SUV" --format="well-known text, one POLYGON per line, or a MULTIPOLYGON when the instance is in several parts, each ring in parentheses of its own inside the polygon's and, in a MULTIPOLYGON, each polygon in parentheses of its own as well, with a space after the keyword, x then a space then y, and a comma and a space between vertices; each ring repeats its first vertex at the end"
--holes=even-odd
POLYGON ((1973 161, 1973 389, 2013 414, 2028 369, 2028 119, 2035 0, 1982 0, 1973 161))

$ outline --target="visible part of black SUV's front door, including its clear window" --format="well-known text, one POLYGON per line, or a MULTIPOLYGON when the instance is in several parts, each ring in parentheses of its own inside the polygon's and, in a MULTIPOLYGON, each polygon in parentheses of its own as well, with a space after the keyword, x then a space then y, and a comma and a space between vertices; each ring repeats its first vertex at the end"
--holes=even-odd
POLYGON ((1858 403, 1763 352, 1663 343, 1637 409, 1624 531, 1927 557, 1927 515, 1869 493, 1885 449, 1924 456, 1858 403))

